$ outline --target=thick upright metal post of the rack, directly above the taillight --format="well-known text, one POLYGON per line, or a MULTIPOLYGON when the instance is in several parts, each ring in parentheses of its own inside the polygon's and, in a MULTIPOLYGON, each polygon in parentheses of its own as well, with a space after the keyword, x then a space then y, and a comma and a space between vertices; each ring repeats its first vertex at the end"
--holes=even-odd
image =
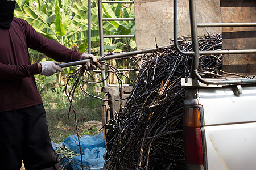
POLYGON ((195 72, 197 72, 199 65, 199 46, 197 37, 197 20, 196 20, 196 2, 195 0, 189 0, 189 15, 190 15, 190 27, 191 27, 191 39, 193 48, 193 59, 191 66, 191 78, 195 78, 195 72))

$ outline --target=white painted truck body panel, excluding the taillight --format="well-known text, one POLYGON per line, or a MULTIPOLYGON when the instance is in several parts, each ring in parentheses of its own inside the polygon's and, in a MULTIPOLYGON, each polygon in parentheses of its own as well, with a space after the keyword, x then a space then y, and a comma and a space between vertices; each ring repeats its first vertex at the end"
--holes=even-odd
POLYGON ((256 169, 256 86, 189 88, 185 105, 200 105, 204 169, 256 169))

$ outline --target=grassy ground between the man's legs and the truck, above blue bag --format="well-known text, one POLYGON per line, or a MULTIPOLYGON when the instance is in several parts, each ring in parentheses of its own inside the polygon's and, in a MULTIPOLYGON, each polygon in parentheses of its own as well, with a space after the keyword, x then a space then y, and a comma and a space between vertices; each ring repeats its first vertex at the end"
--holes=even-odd
MULTIPOLYGON (((73 105, 75 106, 75 113, 71 111, 68 120, 69 102, 61 87, 55 87, 55 91, 48 91, 42 95, 44 101, 56 101, 59 103, 51 103, 46 106, 47 124, 49 126, 49 133, 51 139, 55 143, 63 142, 71 134, 76 135, 75 114, 77 117, 77 126, 79 127, 80 137, 83 135, 96 135, 100 133, 97 128, 84 129, 82 124, 86 121, 96 120, 101 121, 101 105, 102 101, 85 95, 81 91, 77 91, 73 105), (60 101, 61 100, 61 101, 60 101), (60 104, 62 104, 60 106, 60 104), (56 107, 55 107, 56 106, 56 107)), ((95 94, 93 87, 88 87, 90 94, 101 96, 102 94, 95 94)), ((46 103, 44 103, 46 105, 46 103)), ((102 132, 102 131, 101 131, 102 132)))

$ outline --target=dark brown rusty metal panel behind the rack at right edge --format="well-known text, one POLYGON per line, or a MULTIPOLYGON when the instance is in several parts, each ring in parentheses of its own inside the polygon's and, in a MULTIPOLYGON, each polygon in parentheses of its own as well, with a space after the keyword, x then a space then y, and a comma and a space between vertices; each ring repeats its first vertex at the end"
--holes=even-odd
MULTIPOLYGON (((256 22, 255 1, 251 0, 220 0, 221 18, 223 23, 256 22)), ((224 49, 256 49, 255 27, 222 28, 224 49)), ((256 75, 255 54, 225 55, 224 71, 242 75, 256 75)))

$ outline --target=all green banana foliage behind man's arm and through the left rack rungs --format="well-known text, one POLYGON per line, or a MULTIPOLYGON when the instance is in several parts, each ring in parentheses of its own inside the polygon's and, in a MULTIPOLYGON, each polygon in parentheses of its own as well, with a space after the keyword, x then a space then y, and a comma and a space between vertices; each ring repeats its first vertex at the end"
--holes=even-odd
MULTIPOLYGON (((102 5, 104 18, 134 18, 134 6, 123 4, 102 5)), ((92 1, 92 48, 98 48, 98 8, 97 1, 92 1)), ((17 0, 15 16, 27 20, 36 31, 48 39, 55 40, 72 48, 80 46, 85 52, 88 46, 88 0, 17 0), (38 6, 35 6, 35 2, 38 6)), ((105 35, 135 35, 134 21, 104 21, 105 35)), ((105 39, 105 45, 115 48, 127 39, 105 39)), ((135 39, 128 42, 130 50, 135 49, 135 39)), ((112 49, 106 48, 106 52, 112 49)), ((122 51, 121 47, 118 51, 122 51)), ((36 53, 31 50, 32 53, 36 53)))

